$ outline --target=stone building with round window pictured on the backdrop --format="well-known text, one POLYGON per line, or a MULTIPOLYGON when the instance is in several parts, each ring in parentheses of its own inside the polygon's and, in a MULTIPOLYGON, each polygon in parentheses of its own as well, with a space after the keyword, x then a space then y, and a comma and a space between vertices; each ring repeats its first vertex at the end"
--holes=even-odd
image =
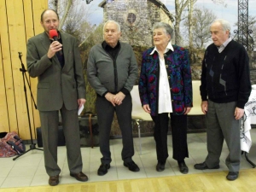
POLYGON ((155 22, 172 25, 173 15, 159 0, 105 0, 103 22, 115 20, 121 26, 121 41, 137 46, 152 46, 152 26, 155 22))

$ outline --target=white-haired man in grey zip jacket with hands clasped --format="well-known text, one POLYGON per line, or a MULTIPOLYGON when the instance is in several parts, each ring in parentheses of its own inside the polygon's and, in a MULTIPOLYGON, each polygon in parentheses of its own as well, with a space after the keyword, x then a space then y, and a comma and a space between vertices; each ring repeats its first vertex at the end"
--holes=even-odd
POLYGON ((96 111, 99 124, 102 165, 98 175, 108 172, 111 162, 109 135, 113 113, 117 114, 122 131, 124 166, 131 172, 138 172, 139 167, 131 157, 134 154, 131 128, 131 94, 137 79, 137 61, 129 44, 119 42, 120 26, 113 20, 103 27, 104 41, 91 50, 87 63, 87 77, 96 90, 96 111))

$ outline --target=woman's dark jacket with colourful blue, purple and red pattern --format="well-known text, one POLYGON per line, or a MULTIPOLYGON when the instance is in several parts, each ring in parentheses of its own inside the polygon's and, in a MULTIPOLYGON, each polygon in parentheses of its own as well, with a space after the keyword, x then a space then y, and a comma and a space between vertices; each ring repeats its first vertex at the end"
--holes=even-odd
MULTIPOLYGON (((192 107, 192 80, 189 65, 189 51, 177 45, 164 55, 166 72, 172 96, 172 113, 183 114, 184 108, 192 107)), ((158 113, 158 89, 160 75, 159 55, 153 48, 143 52, 143 61, 139 79, 139 93, 142 105, 149 104, 151 115, 158 113)))

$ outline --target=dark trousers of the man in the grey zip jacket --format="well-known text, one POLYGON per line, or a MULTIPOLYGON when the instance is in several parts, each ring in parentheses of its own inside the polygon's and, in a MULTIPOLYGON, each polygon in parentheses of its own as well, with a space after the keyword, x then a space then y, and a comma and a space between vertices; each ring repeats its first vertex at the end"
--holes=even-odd
POLYGON ((130 162, 134 155, 132 127, 131 127, 131 95, 125 96, 122 104, 115 107, 105 97, 97 96, 96 112, 99 124, 100 150, 102 153, 102 163, 111 162, 111 152, 109 148, 109 135, 113 122, 114 112, 117 115, 119 127, 122 132, 123 149, 122 160, 130 162))

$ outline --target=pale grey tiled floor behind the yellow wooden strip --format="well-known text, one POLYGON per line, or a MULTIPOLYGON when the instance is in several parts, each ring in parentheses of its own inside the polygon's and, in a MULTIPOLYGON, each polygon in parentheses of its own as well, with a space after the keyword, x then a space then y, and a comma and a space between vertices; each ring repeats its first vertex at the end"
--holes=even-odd
MULTIPOLYGON (((251 137, 256 138, 256 129, 251 130, 251 137)), ((199 171, 194 169, 195 163, 201 163, 207 155, 206 133, 189 133, 189 158, 186 159, 186 164, 189 166, 189 174, 201 172, 219 172, 227 171, 224 164, 228 149, 224 143, 223 153, 221 155, 220 169, 199 171)), ((139 149, 139 139, 134 138, 135 155, 133 160, 140 167, 140 172, 130 172, 121 160, 121 139, 111 140, 111 153, 113 161, 108 174, 105 176, 98 176, 96 174, 100 166, 99 148, 81 148, 84 168, 83 172, 89 177, 89 183, 101 181, 115 181, 123 179, 147 178, 147 177, 166 177, 183 175, 179 172, 177 161, 172 159, 172 136, 168 136, 169 155, 166 162, 166 170, 164 172, 156 172, 156 154, 153 137, 142 138, 142 154, 139 149)), ((29 145, 26 146, 29 148, 29 145)), ((250 153, 248 154, 250 160, 256 163, 256 145, 253 143, 250 153)), ((60 184, 63 183, 79 183, 73 177, 69 176, 67 167, 66 148, 58 148, 58 164, 62 168, 60 184)), ((245 160, 245 156, 241 158, 241 169, 251 169, 252 166, 245 160)), ((48 175, 44 169, 44 155, 43 151, 33 149, 32 151, 20 156, 18 159, 2 158, 0 159, 0 189, 14 188, 14 187, 28 187, 28 186, 42 186, 48 185, 48 175)), ((225 178, 224 178, 225 179, 225 178)))

